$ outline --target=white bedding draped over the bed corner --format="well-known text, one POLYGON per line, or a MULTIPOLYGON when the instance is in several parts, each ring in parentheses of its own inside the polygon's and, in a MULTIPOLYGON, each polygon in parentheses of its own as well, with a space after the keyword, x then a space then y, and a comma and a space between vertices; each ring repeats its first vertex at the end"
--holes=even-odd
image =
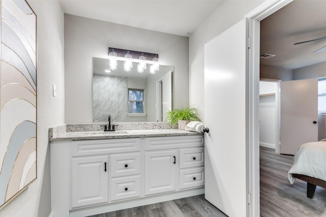
POLYGON ((301 145, 296 150, 293 166, 287 174, 291 184, 295 180, 293 173, 326 181, 326 142, 308 142, 301 145))

